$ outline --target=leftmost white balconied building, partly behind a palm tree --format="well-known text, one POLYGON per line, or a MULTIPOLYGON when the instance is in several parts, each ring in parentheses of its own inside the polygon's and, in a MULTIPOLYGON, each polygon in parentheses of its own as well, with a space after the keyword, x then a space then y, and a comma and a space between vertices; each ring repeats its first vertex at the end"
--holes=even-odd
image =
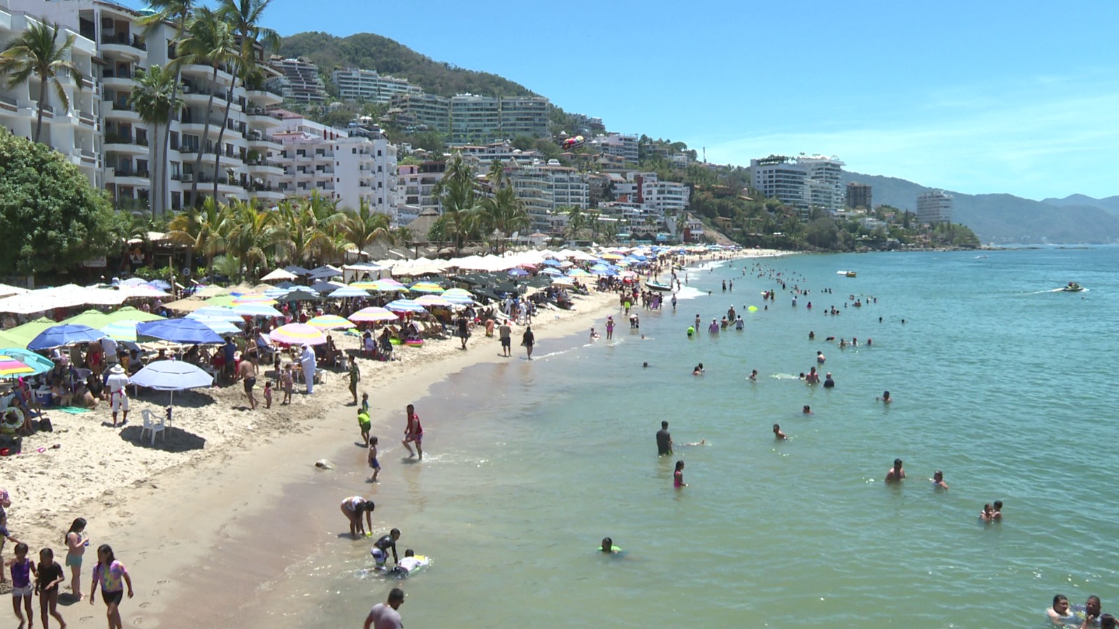
MULTIPOLYGON (((20 37, 27 28, 35 24, 47 22, 11 9, 4 0, 0 0, 0 43, 7 44, 20 37)), ((97 46, 93 39, 83 37, 76 28, 60 26, 65 30, 59 40, 67 35, 76 36, 70 48, 69 60, 82 71, 81 82, 70 76, 59 76, 63 88, 69 98, 69 106, 63 106, 53 87, 47 90, 47 102, 43 112, 43 131, 39 141, 62 153, 67 161, 77 166, 97 187, 104 185, 101 144, 101 88, 97 46), (96 59, 96 60, 95 60, 96 59)), ((34 139, 39 110, 39 81, 31 78, 27 83, 8 86, 7 77, 0 77, 0 124, 21 138, 34 139)))

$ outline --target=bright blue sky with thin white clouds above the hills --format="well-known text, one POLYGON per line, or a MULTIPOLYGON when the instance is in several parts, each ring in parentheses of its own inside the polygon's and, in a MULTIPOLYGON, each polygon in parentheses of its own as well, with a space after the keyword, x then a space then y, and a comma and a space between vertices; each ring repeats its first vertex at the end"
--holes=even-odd
POLYGON ((383 35, 712 162, 821 153, 967 194, 1119 195, 1115 0, 272 0, 265 22, 383 35))

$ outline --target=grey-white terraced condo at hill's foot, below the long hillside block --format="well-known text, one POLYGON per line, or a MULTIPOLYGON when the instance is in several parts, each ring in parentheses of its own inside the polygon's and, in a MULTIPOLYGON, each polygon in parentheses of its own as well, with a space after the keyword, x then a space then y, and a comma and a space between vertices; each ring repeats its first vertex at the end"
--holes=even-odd
POLYGON ((507 173, 517 198, 525 203, 535 231, 554 233, 562 229, 565 217, 557 213, 561 208, 590 207, 586 177, 574 168, 560 166, 557 160, 547 163, 534 160, 524 165, 514 161, 507 173))

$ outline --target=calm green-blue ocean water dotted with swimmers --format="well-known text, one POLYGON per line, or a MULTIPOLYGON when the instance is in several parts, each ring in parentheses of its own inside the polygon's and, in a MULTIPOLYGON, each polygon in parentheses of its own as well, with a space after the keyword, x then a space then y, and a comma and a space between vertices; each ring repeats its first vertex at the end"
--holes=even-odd
POLYGON ((694 297, 639 310, 639 332, 622 319, 613 341, 545 342, 532 363, 473 367, 399 401, 401 431, 404 404, 423 419, 425 460, 402 460, 384 435, 372 486, 364 451, 344 451, 314 481, 322 535, 267 585, 266 618, 247 616, 358 626, 399 584, 369 572, 368 541, 338 535, 337 503, 352 494, 377 500, 378 531, 404 532, 402 553, 432 558, 403 583, 413 628, 1041 628, 1054 593, 1119 604, 1119 248, 758 263, 810 293, 792 307, 753 261, 693 269, 694 297), (847 269, 858 276, 836 274, 847 269), (1053 291, 1070 280, 1089 290, 1053 291), (845 308, 852 294, 871 303, 845 308), (745 331, 686 337, 697 313, 732 304, 745 331), (817 350, 834 389, 794 377, 817 350), (885 389, 891 405, 875 401, 885 389), (678 444, 706 445, 658 458, 661 420, 678 444), (894 458, 909 478, 887 486, 894 458), (948 491, 931 489, 935 470, 948 491), (997 499, 1004 520, 979 522, 997 499), (596 553, 604 536, 624 553, 596 553))

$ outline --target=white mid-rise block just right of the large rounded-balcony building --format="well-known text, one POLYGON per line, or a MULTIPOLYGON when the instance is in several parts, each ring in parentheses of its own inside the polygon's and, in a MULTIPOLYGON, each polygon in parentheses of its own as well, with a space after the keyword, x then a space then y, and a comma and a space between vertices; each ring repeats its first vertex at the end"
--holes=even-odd
POLYGON ((379 132, 356 133, 307 120, 284 110, 273 112, 280 126, 272 140, 283 150, 275 160, 281 194, 309 197, 316 190, 358 209, 365 204, 396 220, 396 147, 379 132))

